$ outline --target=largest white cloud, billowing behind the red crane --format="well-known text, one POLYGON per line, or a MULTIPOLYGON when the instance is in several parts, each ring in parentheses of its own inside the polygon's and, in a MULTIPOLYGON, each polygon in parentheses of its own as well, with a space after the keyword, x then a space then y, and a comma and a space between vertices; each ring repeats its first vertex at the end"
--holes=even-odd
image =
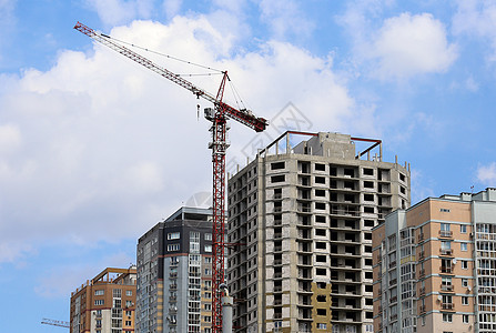
MULTIPOLYGON (((230 57, 235 44, 209 20, 175 17, 169 26, 135 21, 111 34, 229 69, 260 117, 272 119, 292 101, 312 120, 311 131, 352 130, 347 119, 354 101, 332 59, 282 42, 230 57)), ((185 71, 156 54, 146 57, 174 72, 185 71)), ((213 93, 220 83, 220 77, 191 80, 213 93)), ((50 70, 2 75, 0 87, 3 127, 19 129, 3 129, 10 134, 2 142, 16 149, 0 163, 0 221, 9 221, 0 223, 2 244, 138 238, 212 186, 209 123, 196 119, 196 104, 209 103, 104 47, 88 54, 61 51, 50 70)), ((226 87, 232 102, 230 91, 226 87)), ((245 161, 239 151, 252 138, 270 140, 264 135, 233 122, 229 159, 245 161)), ((11 261, 24 248, 8 249, 0 261, 11 261)))

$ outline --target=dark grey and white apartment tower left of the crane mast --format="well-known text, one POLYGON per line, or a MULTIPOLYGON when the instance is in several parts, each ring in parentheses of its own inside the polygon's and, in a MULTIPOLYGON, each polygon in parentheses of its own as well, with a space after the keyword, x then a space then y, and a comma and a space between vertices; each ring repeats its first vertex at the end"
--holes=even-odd
POLYGON ((181 208, 138 242, 136 332, 211 332, 212 210, 181 208))

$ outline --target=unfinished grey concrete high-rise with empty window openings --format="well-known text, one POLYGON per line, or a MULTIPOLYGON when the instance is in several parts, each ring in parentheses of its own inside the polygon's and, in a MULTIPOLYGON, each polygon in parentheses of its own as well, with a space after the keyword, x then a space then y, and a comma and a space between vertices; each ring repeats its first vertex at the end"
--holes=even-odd
POLYGON ((229 179, 227 204, 235 332, 373 332, 372 228, 409 205, 406 163, 378 140, 286 132, 229 179))

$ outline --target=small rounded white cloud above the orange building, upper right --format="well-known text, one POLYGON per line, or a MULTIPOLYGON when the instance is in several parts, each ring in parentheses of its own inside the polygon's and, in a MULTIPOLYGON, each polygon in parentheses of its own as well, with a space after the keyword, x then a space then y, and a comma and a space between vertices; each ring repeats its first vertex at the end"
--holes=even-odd
POLYGON ((432 14, 402 13, 384 21, 376 32, 370 57, 378 62, 381 79, 408 79, 446 71, 457 51, 449 44, 443 23, 432 14))

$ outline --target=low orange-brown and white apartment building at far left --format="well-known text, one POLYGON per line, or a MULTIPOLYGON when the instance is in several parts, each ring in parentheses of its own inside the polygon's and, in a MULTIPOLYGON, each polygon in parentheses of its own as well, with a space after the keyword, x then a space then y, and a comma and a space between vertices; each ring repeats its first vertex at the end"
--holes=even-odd
POLYGON ((71 333, 134 332, 136 268, 105 269, 71 293, 71 333))

